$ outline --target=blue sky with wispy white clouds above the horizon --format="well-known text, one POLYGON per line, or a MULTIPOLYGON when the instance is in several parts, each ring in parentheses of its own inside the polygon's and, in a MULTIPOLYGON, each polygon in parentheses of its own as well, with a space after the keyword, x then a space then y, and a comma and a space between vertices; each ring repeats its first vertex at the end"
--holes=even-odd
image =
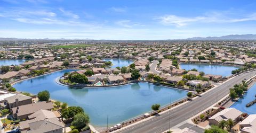
POLYGON ((0 37, 184 39, 256 34, 256 1, 0 0, 0 37))

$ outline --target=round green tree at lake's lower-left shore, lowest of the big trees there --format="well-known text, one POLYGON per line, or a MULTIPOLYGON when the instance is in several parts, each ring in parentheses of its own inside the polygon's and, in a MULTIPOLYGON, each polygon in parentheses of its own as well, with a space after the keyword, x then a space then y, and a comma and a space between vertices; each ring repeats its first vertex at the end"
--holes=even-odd
POLYGON ((78 113, 75 115, 74 120, 71 125, 75 126, 77 129, 81 130, 90 122, 90 118, 85 113, 78 113))

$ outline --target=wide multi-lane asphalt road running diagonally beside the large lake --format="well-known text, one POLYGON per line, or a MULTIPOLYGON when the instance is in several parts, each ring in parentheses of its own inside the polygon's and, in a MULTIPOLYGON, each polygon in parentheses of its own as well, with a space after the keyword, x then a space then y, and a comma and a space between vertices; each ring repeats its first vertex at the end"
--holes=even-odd
POLYGON ((233 85, 241 83, 244 78, 249 79, 255 75, 256 71, 241 74, 234 77, 233 79, 215 87, 214 89, 208 91, 201 97, 183 104, 178 108, 165 112, 161 116, 155 117, 153 119, 140 122, 137 125, 131 126, 126 129, 121 129, 117 132, 163 132, 168 130, 169 127, 178 125, 179 123, 195 116, 197 113, 202 112, 203 110, 209 108, 211 105, 217 103, 220 99, 229 94, 229 88, 233 85), (218 95, 217 95, 218 94, 218 95), (171 123, 169 123, 171 118, 171 123))

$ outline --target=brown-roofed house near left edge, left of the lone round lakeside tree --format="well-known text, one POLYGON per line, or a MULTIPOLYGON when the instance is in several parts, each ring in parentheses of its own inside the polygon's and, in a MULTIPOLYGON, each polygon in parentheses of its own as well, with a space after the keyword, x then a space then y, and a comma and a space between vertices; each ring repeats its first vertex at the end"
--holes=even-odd
POLYGON ((18 107, 20 105, 26 105, 32 103, 32 97, 17 94, 10 97, 5 98, 5 104, 8 109, 18 107))

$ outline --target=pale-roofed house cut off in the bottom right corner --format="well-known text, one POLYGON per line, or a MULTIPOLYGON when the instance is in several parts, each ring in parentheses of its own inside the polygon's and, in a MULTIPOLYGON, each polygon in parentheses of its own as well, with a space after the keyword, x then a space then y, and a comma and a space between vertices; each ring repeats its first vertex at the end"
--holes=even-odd
POLYGON ((238 123, 241 133, 256 132, 256 114, 250 114, 242 122, 238 123))

